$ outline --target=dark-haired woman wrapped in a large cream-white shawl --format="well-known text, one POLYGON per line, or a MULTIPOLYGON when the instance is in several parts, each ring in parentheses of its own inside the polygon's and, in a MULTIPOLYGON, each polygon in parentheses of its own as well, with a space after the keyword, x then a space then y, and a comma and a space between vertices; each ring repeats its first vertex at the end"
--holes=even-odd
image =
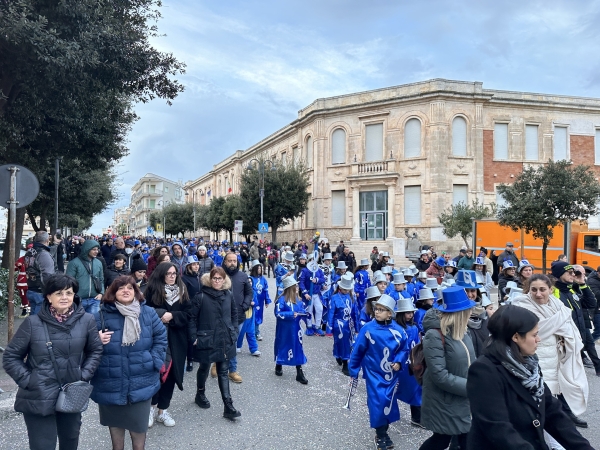
POLYGON ((544 381, 558 396, 574 422, 587 408, 588 382, 581 359, 583 343, 571 310, 552 295, 552 283, 546 275, 532 275, 525 285, 525 295, 512 304, 534 313, 539 320, 541 343, 537 348, 544 381))

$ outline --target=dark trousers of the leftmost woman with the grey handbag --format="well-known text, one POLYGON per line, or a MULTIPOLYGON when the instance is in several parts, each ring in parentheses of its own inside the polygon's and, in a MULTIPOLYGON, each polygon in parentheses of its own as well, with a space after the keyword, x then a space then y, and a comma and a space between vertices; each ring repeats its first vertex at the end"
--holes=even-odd
POLYGON ((23 414, 29 448, 31 450, 48 450, 56 447, 58 438, 59 450, 77 450, 79 445, 79 429, 81 413, 54 413, 50 416, 23 414))

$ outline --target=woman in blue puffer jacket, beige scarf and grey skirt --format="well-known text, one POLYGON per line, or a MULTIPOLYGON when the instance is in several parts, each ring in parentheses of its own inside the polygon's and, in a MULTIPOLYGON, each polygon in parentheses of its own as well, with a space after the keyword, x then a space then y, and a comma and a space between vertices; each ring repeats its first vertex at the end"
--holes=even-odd
POLYGON ((102 299, 96 326, 104 353, 92 380, 100 424, 109 427, 113 449, 123 449, 129 430, 133 450, 142 450, 148 431, 150 400, 160 388, 167 333, 144 304, 135 279, 118 277, 102 299), (115 383, 118 380, 118 383, 115 383))

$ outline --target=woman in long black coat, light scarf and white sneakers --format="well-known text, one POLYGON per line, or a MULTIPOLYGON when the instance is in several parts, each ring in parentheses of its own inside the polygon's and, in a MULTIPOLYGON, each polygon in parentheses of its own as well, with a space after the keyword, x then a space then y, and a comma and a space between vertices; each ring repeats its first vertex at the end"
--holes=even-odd
POLYGON ((167 329, 167 356, 165 369, 161 374, 160 390, 152 397, 152 407, 148 419, 151 427, 154 419, 167 427, 175 426, 175 420, 168 411, 173 398, 175 385, 183 391, 183 375, 188 342, 195 339, 190 318, 193 305, 185 284, 181 280, 178 267, 173 263, 156 266, 146 288, 148 306, 167 329))

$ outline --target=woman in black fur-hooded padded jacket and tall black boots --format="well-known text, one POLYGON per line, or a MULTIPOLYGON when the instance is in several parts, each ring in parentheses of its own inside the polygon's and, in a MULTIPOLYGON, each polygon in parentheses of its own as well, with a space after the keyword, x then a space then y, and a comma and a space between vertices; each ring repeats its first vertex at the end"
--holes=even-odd
POLYGON ((200 363, 196 373, 194 401, 202 409, 210 408, 210 401, 206 397, 206 379, 214 363, 224 405, 223 417, 233 420, 241 416, 233 406, 230 377, 227 374, 229 362, 235 357, 239 324, 237 304, 231 279, 223 268, 213 267, 209 273, 202 275, 200 282, 202 291, 194 298, 192 316, 195 327, 194 360, 200 363))

